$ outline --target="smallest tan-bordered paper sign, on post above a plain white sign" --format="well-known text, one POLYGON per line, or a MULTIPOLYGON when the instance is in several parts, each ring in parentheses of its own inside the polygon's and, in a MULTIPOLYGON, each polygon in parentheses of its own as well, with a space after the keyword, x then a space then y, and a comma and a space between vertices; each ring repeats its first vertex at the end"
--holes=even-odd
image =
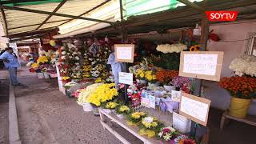
POLYGON ((115 44, 115 62, 134 62, 134 45, 115 44))

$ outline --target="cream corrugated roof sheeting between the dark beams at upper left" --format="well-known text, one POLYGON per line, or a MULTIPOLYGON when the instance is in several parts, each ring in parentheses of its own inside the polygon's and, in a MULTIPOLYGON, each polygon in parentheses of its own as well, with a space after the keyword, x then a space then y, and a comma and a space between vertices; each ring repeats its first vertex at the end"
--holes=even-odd
MULTIPOLYGON (((84 14, 86 11, 93 9, 95 6, 100 5, 106 0, 69 0, 66 1, 57 11, 59 14, 69 14, 73 16, 79 16, 84 14)), ((61 2, 48 2, 38 5, 24 5, 17 6, 30 10, 43 10, 52 12, 61 2)), ((37 30, 38 26, 48 18, 48 14, 36 14, 18 10, 4 10, 6 16, 6 24, 8 34, 17 34, 26 31, 37 30)), ((72 18, 65 18, 60 16, 51 16, 45 24, 43 24, 38 30, 57 27, 67 20, 72 18), (56 22, 57 21, 57 22, 56 22)), ((4 18, 1 14, 1 21, 4 24, 4 18)), ((72 22, 72 21, 71 21, 72 22)))

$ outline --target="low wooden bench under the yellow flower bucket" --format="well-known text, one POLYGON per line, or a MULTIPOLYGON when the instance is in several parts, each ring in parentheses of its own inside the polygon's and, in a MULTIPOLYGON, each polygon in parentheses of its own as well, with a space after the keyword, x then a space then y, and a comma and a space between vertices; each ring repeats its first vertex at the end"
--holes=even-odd
POLYGON ((220 125, 221 130, 223 130, 225 122, 228 122, 230 119, 238 121, 238 122, 244 122, 244 123, 252 125, 252 126, 256 126, 256 117, 255 116, 247 115, 246 118, 236 118, 236 117, 233 117, 230 115, 229 110, 226 110, 222 114, 222 120, 221 120, 221 125, 220 125))

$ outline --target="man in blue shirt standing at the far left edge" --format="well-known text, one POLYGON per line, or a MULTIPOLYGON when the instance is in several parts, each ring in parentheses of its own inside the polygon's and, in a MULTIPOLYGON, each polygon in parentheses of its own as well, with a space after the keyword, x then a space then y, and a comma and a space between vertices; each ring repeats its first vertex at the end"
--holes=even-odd
POLYGON ((17 68, 19 66, 16 54, 11 47, 6 48, 6 51, 0 56, 3 60, 6 69, 10 74, 10 82, 13 86, 20 86, 21 84, 17 80, 17 68))

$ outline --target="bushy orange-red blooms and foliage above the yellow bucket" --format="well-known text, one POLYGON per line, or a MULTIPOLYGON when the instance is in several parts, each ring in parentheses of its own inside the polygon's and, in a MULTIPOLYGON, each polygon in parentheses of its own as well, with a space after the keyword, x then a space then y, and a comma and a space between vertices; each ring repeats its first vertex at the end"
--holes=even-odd
POLYGON ((222 78, 218 86, 226 89, 235 98, 256 98, 256 78, 238 76, 222 78))

